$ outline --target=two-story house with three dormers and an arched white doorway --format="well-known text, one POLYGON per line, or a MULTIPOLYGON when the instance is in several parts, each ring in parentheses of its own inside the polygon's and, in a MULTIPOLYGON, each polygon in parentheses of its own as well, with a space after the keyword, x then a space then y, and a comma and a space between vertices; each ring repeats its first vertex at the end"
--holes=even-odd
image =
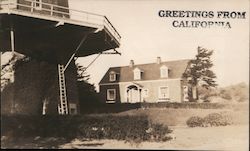
POLYGON ((99 83, 106 103, 182 102, 188 100, 188 85, 182 78, 189 60, 111 67, 99 83))

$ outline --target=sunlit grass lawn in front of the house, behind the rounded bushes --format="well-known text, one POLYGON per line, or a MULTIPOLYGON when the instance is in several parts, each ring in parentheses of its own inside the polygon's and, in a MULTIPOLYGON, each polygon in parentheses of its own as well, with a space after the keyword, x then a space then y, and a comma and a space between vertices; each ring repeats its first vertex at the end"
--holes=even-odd
POLYGON ((146 114, 155 123, 162 123, 168 126, 185 126, 186 121, 191 116, 204 117, 210 113, 226 112, 233 118, 235 124, 249 123, 248 104, 233 106, 227 109, 173 109, 173 108, 149 108, 134 109, 118 113, 116 115, 138 115, 146 114))

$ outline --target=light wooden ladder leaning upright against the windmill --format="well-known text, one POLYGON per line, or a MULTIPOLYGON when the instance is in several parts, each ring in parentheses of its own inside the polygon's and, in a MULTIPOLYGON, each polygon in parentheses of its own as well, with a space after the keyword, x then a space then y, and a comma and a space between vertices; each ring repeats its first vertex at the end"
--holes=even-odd
POLYGON ((68 114, 68 102, 66 96, 66 84, 63 65, 58 64, 58 74, 60 91, 60 103, 58 104, 58 113, 64 115, 68 114))

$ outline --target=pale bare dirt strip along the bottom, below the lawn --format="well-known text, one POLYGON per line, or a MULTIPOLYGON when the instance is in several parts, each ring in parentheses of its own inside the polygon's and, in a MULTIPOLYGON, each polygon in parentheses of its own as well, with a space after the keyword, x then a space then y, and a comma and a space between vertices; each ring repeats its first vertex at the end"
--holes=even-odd
POLYGON ((248 150, 248 125, 225 127, 188 128, 172 127, 174 139, 168 142, 125 143, 117 140, 82 141, 75 139, 60 148, 99 149, 198 149, 198 150, 248 150))

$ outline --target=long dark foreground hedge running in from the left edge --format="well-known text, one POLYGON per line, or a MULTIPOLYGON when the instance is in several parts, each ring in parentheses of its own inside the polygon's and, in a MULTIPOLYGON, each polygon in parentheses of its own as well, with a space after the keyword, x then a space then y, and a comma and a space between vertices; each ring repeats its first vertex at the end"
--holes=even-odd
POLYGON ((2 116, 2 136, 166 141, 167 126, 147 116, 2 116))

